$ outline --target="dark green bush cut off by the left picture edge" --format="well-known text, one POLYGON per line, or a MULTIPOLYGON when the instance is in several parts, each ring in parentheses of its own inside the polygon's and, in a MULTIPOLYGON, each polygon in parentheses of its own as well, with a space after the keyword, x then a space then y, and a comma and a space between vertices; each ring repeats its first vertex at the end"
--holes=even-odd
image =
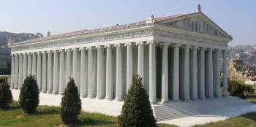
POLYGON ((12 92, 7 82, 0 83, 0 109, 6 109, 12 103, 12 92))

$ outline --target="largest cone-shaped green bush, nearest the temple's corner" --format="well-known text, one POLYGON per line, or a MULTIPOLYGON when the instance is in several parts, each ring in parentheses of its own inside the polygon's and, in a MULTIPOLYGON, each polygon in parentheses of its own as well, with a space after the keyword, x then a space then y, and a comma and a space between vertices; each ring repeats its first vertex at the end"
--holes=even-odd
POLYGON ((157 126, 157 120, 154 118, 148 95, 141 80, 138 75, 133 75, 132 85, 124 99, 121 115, 118 115, 119 126, 157 126))

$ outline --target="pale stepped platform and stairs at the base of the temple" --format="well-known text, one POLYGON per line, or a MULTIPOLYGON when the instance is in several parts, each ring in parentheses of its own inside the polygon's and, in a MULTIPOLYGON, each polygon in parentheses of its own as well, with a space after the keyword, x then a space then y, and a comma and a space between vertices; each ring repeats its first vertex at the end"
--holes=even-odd
MULTIPOLYGON (((12 96, 18 101, 19 90, 12 90, 12 96)), ((39 105, 60 106, 60 95, 40 93, 39 105)), ((107 101, 99 99, 81 98, 82 110, 97 112, 105 115, 118 116, 124 101, 107 101)), ((176 126, 193 126, 217 120, 242 115, 246 112, 256 112, 256 104, 227 97, 197 101, 171 101, 166 104, 152 104, 157 123, 167 123, 176 126)))

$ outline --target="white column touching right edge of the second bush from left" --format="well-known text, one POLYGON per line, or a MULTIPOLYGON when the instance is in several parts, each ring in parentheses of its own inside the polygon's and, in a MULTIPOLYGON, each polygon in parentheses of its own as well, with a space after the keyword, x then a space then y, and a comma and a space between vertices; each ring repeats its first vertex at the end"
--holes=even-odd
POLYGON ((37 85, 39 91, 42 90, 42 53, 37 53, 37 85))

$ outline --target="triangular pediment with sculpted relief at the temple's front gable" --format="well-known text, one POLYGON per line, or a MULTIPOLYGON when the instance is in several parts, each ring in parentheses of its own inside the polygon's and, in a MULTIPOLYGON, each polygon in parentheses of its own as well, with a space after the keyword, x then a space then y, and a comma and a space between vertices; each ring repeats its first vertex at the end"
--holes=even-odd
POLYGON ((211 34, 232 39, 232 37, 217 26, 214 21, 204 15, 202 12, 194 12, 187 15, 181 15, 165 20, 158 20, 157 23, 184 28, 189 31, 198 31, 204 34, 211 34))

